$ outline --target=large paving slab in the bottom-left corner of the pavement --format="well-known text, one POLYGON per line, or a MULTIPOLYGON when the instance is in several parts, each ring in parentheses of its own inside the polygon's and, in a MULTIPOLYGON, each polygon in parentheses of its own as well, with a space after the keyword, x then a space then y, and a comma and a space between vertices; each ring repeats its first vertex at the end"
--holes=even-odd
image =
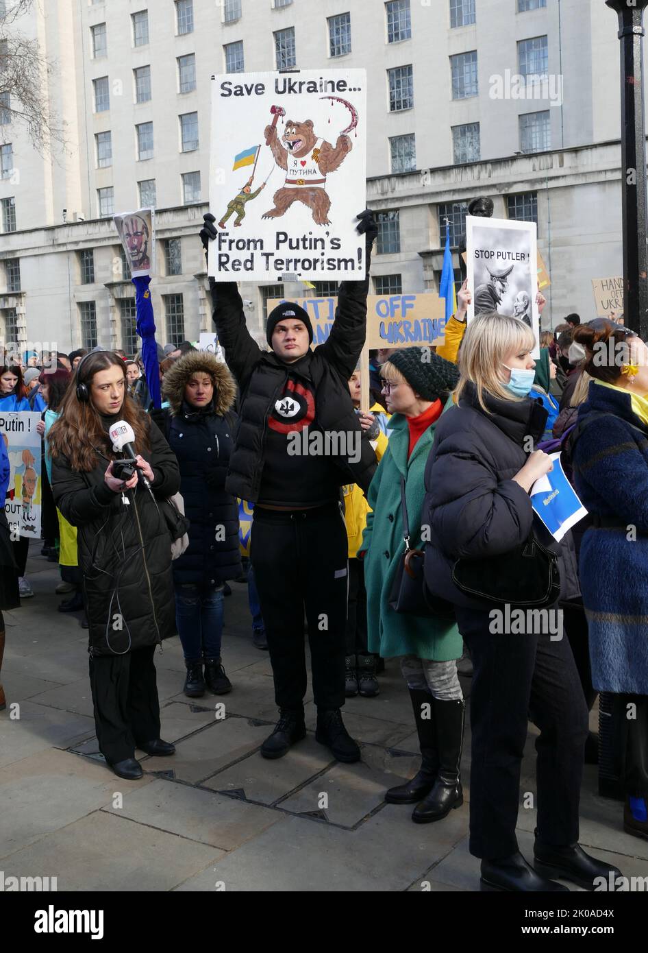
POLYGON ((171 890, 224 856, 215 847, 95 811, 3 864, 5 876, 56 877, 59 891, 139 892, 171 890))

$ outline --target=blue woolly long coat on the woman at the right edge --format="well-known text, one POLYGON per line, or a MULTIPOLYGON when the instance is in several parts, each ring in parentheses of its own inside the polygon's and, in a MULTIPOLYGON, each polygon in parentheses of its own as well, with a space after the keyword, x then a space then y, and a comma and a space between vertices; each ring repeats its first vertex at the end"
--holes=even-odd
POLYGON ((576 441, 574 482, 583 506, 618 518, 619 529, 588 529, 580 546, 592 681, 600 692, 648 695, 648 425, 629 394, 593 382, 579 420, 595 411, 610 416, 576 441))

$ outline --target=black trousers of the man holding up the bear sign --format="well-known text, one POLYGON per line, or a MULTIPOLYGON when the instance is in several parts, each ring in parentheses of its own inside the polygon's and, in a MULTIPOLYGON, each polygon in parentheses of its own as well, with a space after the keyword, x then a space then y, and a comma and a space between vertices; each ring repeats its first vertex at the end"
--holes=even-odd
POLYGON ((299 710, 304 703, 305 609, 315 704, 341 708, 348 574, 339 503, 289 513, 255 507, 250 560, 278 706, 299 710))

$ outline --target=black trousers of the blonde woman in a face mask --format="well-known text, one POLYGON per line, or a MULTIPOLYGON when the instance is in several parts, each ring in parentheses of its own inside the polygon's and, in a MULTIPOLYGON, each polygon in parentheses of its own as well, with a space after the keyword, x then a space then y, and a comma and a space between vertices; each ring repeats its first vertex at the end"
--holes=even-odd
POLYGON ((536 740, 538 837, 579 839, 579 797, 588 712, 569 641, 548 635, 494 635, 488 611, 457 609, 470 649, 470 853, 488 860, 518 850, 520 765, 527 720, 536 740))

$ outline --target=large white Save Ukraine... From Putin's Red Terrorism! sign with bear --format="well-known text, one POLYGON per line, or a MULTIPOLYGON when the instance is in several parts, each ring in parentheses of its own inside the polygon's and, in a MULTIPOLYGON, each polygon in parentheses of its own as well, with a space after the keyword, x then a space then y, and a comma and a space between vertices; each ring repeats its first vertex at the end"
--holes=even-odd
POLYGON ((361 280, 365 181, 363 70, 212 77, 217 281, 361 280))

